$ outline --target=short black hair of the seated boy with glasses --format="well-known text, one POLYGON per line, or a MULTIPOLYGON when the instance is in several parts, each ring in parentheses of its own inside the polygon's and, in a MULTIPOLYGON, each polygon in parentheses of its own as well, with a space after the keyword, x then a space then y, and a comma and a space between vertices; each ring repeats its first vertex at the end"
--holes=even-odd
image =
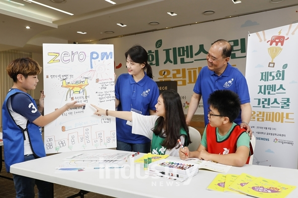
POLYGON ((233 122, 240 113, 240 99, 235 92, 230 90, 217 90, 210 94, 208 103, 217 109, 223 116, 233 122))

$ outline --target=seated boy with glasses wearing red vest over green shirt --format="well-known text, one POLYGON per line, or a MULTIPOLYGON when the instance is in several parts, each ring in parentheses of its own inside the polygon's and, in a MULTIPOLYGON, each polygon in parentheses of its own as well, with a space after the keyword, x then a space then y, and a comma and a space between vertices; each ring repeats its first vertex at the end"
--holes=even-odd
POLYGON ((230 90, 217 90, 208 99, 208 120, 201 145, 196 151, 180 148, 181 159, 197 157, 231 166, 248 164, 253 154, 250 137, 233 120, 239 115, 240 100, 230 90), (187 153, 187 155, 186 155, 187 153))

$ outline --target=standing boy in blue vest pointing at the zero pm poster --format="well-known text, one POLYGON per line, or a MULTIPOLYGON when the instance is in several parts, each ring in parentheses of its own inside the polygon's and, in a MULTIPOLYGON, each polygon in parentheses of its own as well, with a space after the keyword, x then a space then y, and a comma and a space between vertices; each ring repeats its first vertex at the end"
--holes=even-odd
MULTIPOLYGON (((36 88, 37 75, 41 72, 39 64, 32 58, 17 58, 7 66, 6 71, 13 80, 13 86, 2 105, 4 160, 6 171, 9 172, 12 164, 46 156, 41 127, 54 121, 69 108, 84 104, 73 101, 43 116, 43 91, 38 106, 27 94, 28 90, 36 88)), ((15 174, 12 177, 16 198, 34 198, 35 184, 39 198, 53 198, 53 184, 15 174)))

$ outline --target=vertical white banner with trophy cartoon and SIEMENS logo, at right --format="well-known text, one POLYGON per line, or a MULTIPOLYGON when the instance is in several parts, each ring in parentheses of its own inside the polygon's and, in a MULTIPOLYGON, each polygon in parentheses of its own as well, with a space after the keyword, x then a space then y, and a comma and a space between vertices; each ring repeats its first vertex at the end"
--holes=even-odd
POLYGON ((297 169, 298 24, 248 35, 253 164, 297 169))

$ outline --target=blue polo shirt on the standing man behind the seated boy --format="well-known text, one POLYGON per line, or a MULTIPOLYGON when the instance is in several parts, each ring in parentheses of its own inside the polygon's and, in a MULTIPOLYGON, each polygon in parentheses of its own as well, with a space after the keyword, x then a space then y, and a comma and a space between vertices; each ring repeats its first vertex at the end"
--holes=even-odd
MULTIPOLYGON (((205 126, 208 124, 208 98, 210 94, 216 90, 224 89, 238 94, 241 104, 250 102, 246 79, 237 68, 227 63, 224 73, 220 76, 208 69, 208 66, 201 69, 194 87, 194 93, 202 95, 205 126)), ((233 122, 241 123, 241 110, 233 122)))

